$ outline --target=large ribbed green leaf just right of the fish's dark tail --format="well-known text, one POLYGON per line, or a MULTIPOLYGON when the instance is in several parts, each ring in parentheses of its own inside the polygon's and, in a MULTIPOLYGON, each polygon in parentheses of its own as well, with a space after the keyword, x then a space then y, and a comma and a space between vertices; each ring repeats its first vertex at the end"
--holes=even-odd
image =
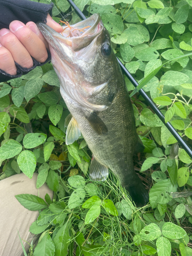
POLYGON ((152 208, 156 208, 157 204, 166 204, 172 200, 168 193, 176 192, 177 187, 173 186, 170 179, 160 181, 153 185, 150 190, 150 204, 152 208))

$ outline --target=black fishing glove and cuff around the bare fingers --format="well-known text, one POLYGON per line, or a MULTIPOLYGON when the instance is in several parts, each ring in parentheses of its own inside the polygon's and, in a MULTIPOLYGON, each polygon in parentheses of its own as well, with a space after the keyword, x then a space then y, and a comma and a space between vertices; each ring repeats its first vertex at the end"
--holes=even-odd
MULTIPOLYGON (((28 0, 0 0, 0 29, 9 28, 9 24, 13 20, 20 20, 24 24, 32 21, 37 22, 47 22, 47 15, 52 14, 53 3, 41 4, 28 0)), ((42 66, 51 60, 51 54, 48 52, 48 58, 44 63, 36 61, 33 57, 33 67, 30 69, 22 68, 15 62, 17 68, 16 75, 10 75, 0 69, 0 82, 10 80, 12 78, 17 78, 22 75, 27 74, 32 69, 37 66, 42 66)))

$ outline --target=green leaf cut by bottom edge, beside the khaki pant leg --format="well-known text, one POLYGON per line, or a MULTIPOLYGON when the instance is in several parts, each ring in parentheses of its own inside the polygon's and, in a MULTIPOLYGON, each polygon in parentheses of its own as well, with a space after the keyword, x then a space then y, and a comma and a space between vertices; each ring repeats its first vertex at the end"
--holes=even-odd
POLYGON ((37 246, 34 250, 34 256, 54 256, 55 245, 53 243, 52 238, 49 233, 46 233, 44 237, 42 237, 41 241, 38 242, 37 246))

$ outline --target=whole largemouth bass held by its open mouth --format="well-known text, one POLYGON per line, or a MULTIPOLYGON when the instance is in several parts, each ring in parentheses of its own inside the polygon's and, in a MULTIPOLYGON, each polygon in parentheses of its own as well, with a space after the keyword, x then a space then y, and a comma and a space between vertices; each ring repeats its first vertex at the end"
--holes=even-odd
POLYGON ((57 33, 38 28, 49 43, 60 93, 71 113, 66 144, 82 133, 93 158, 92 180, 105 180, 109 169, 137 206, 148 194, 134 170, 133 154, 140 145, 132 103, 108 31, 98 14, 57 33))

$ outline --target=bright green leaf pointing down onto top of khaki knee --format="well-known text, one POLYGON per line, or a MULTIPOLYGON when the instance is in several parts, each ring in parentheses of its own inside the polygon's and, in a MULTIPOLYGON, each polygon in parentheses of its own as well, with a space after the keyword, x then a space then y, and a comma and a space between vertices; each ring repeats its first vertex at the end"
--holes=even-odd
POLYGON ((22 151, 17 158, 17 163, 22 172, 31 179, 36 167, 34 153, 29 150, 22 151))

